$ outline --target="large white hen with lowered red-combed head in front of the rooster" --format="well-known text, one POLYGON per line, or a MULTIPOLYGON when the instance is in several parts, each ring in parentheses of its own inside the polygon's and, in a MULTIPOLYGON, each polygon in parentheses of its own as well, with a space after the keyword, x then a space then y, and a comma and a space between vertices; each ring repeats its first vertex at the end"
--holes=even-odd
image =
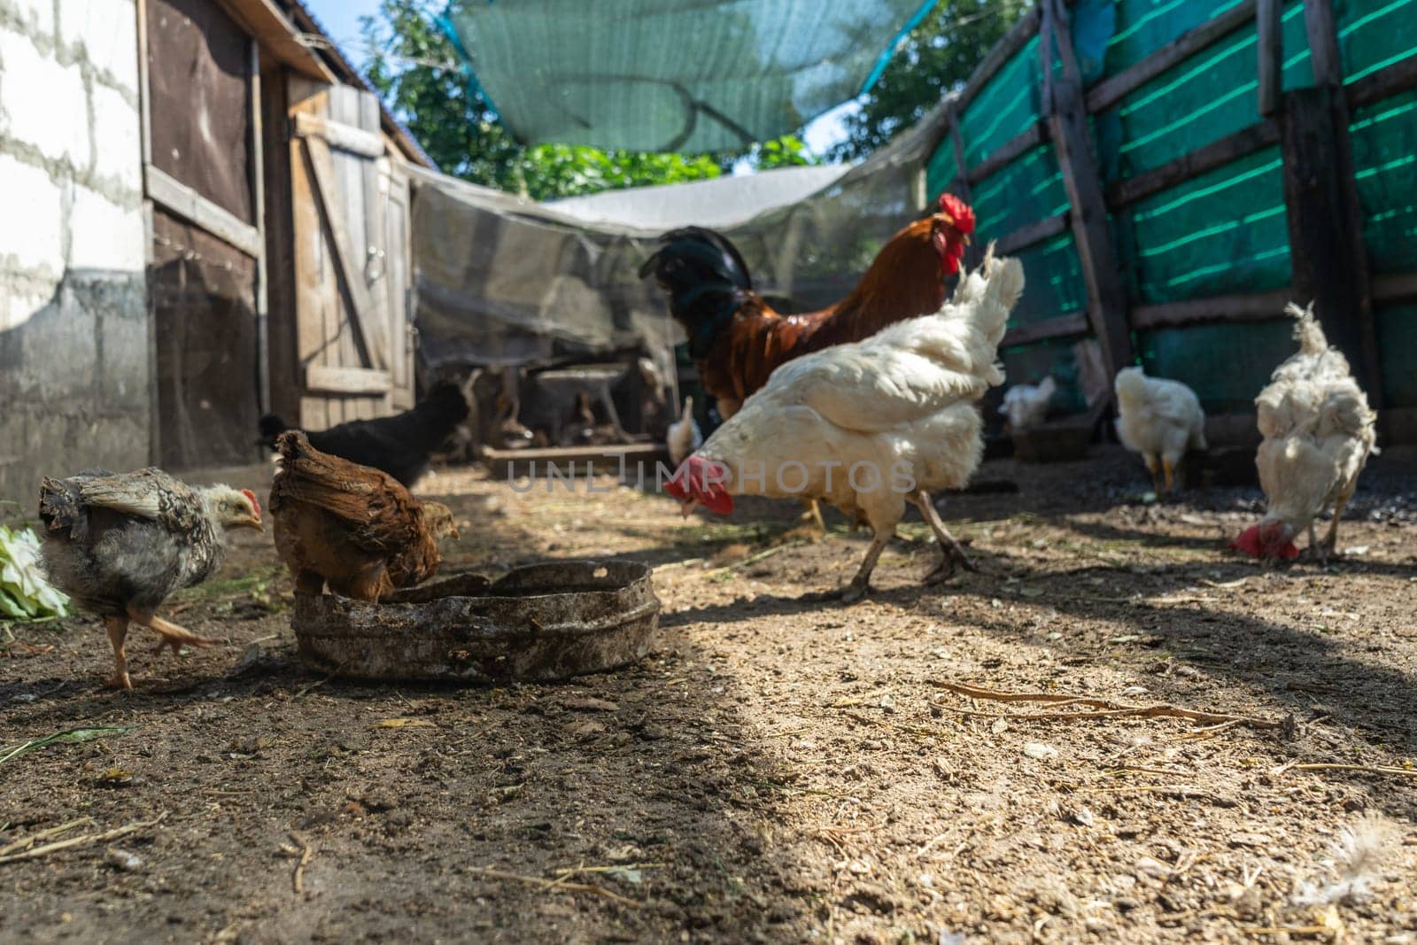
POLYGON ((874 538, 846 601, 870 588, 907 500, 920 506, 942 551, 927 582, 948 578, 955 564, 973 570, 930 493, 964 486, 979 465, 975 401, 1003 383, 998 346, 1022 292, 1023 266, 996 259, 990 247, 935 315, 778 367, 684 460, 667 492, 686 516, 697 504, 727 514, 734 494, 757 494, 819 499, 864 519, 874 538))

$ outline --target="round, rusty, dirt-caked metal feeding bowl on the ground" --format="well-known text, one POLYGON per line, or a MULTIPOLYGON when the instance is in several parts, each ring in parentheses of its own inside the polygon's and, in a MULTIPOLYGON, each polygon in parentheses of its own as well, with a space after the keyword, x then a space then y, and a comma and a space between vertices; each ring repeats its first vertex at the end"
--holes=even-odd
POLYGON ((659 626, 652 568, 551 561, 462 574, 378 604, 298 594, 300 659, 377 680, 550 681, 635 663, 659 626))

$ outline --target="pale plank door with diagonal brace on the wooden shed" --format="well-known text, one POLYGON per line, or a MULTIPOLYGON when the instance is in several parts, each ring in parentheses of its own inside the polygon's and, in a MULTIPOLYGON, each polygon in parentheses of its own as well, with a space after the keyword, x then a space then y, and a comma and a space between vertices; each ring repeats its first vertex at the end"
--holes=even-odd
POLYGON ((385 147, 377 99, 290 79, 290 183, 300 425, 324 429, 412 404, 407 181, 385 147), (390 221, 398 220, 397 225, 390 221))

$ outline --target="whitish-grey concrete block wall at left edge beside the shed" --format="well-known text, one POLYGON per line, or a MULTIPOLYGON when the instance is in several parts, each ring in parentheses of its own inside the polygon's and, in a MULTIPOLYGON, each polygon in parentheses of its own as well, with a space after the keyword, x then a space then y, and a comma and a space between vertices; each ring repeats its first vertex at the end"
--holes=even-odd
MULTIPOLYGON (((135 0, 0 0, 0 499, 145 466, 135 0)), ((0 506, 0 520, 17 510, 0 506)))

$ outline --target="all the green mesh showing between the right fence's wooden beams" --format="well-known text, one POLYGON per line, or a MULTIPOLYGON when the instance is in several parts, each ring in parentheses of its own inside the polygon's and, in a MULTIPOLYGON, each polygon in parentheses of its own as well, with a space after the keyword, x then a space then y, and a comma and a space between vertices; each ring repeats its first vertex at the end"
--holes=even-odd
MULTIPOLYGON (((1135 65, 1182 33, 1240 0, 1078 0, 1074 47, 1088 84, 1135 65)), ((1417 0, 1333 0, 1345 81, 1417 55, 1417 0)), ((1304 6, 1281 7, 1285 89, 1314 84, 1304 6)), ((1258 115, 1257 34, 1246 24, 1219 43, 1091 116, 1104 180, 1117 181, 1250 128, 1258 115)), ((961 116, 965 159, 975 166, 1039 116, 1037 40, 1016 54, 961 116)), ((1353 112, 1350 137, 1374 272, 1417 271, 1417 91, 1353 112)), ((955 176, 952 142, 930 162, 931 188, 955 176)), ((973 187, 979 231, 1003 237, 1067 208, 1050 146, 1022 154, 973 187)), ((1161 305, 1292 285, 1282 162, 1278 147, 1238 159, 1112 220, 1132 305, 1161 305)), ((1070 234, 1017 254, 1027 290, 1010 326, 1046 323, 1087 309, 1070 234)), ((1376 316, 1387 400, 1417 405, 1417 305, 1379 306, 1376 316)), ((1251 411, 1255 392, 1292 351, 1291 322, 1196 324, 1136 333, 1138 356, 1162 377, 1190 384, 1209 411, 1251 411)), ((1054 374, 1071 384, 1076 339, 1003 353, 1009 383, 1054 374), (1066 380, 1068 378, 1068 380, 1066 380)), ((1077 397, 1076 384, 1068 397, 1077 397)))

